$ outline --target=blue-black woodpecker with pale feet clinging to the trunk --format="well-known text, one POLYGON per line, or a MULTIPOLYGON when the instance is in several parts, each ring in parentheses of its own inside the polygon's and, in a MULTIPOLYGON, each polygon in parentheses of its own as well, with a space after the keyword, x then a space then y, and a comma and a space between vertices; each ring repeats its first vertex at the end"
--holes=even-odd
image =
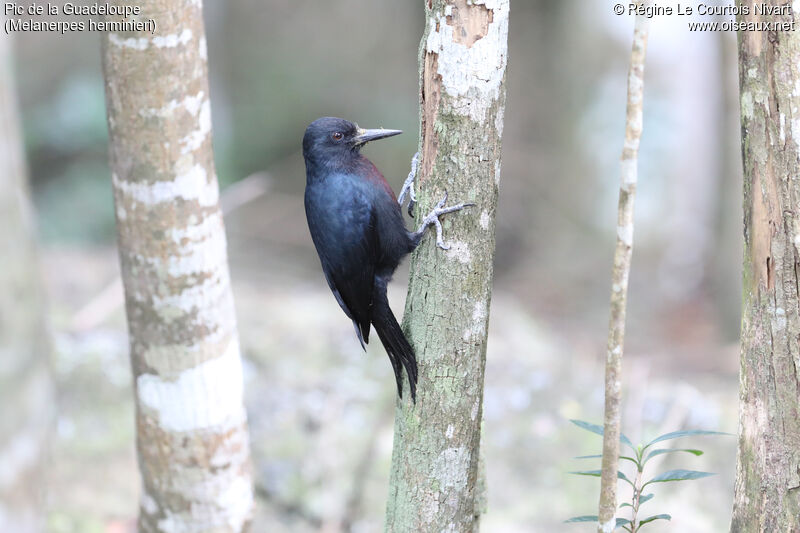
MULTIPOLYGON (((389 308, 386 286, 397 265, 435 226, 437 244, 446 249, 438 217, 473 204, 444 207, 447 195, 425 217, 417 231, 403 222, 401 204, 383 175, 360 149, 369 141, 402 133, 365 130, 341 118, 312 122, 303 136, 306 162, 305 208, 311 239, 336 301, 353 321, 361 347, 375 326, 394 369, 397 393, 403 396, 402 368, 408 374, 411 397, 417 395, 417 360, 389 308)), ((416 172, 417 156, 403 187, 405 196, 416 172)), ((413 204, 413 192, 411 194, 413 204)), ((412 205, 409 205, 409 212, 412 205)))

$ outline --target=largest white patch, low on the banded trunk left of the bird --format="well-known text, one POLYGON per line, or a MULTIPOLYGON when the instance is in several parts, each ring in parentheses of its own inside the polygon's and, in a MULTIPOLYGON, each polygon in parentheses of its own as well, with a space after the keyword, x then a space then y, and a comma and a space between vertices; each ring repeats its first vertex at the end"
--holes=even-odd
POLYGON ((139 404, 167 431, 230 427, 245 420, 239 342, 214 359, 169 379, 142 374, 136 380, 139 404))

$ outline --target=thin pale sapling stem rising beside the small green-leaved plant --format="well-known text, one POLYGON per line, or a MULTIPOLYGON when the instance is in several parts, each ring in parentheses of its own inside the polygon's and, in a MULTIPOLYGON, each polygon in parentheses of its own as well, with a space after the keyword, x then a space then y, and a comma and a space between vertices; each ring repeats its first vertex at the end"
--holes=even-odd
MULTIPOLYGON (((647 4, 648 2, 637 2, 647 4)), ((633 252, 633 205, 636 198, 637 158, 642 136, 644 59, 647 53, 649 19, 636 16, 633 30, 628 103, 625 112, 625 145, 622 149, 617 214, 617 244, 611 273, 611 317, 605 372, 605 414, 603 419, 603 460, 597 530, 611 533, 616 526, 617 470, 619 469, 620 411, 622 404, 622 353, 625 344, 625 312, 628 305, 628 276, 633 252)))

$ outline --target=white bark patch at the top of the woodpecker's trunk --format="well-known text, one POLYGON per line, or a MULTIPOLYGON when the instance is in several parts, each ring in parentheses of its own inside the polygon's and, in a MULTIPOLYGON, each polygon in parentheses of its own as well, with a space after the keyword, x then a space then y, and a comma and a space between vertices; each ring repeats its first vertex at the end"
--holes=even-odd
POLYGON ((500 84, 506 71, 509 0, 473 0, 472 5, 478 4, 493 12, 486 35, 469 47, 457 42, 454 35, 457 28, 448 24, 445 11, 438 19, 429 19, 433 26, 425 48, 438 54, 442 90, 453 97, 454 110, 483 122, 489 108, 500 97, 500 84), (471 91, 476 94, 467 96, 471 91))

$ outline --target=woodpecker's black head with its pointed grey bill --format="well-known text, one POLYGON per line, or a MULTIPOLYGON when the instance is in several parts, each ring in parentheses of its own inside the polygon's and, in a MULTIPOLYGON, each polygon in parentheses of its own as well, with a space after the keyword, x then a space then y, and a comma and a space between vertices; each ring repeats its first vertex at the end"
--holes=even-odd
POLYGON ((403 133, 383 128, 366 130, 343 118, 322 117, 308 125, 303 136, 303 157, 306 161, 341 161, 358 153, 369 141, 403 133))

